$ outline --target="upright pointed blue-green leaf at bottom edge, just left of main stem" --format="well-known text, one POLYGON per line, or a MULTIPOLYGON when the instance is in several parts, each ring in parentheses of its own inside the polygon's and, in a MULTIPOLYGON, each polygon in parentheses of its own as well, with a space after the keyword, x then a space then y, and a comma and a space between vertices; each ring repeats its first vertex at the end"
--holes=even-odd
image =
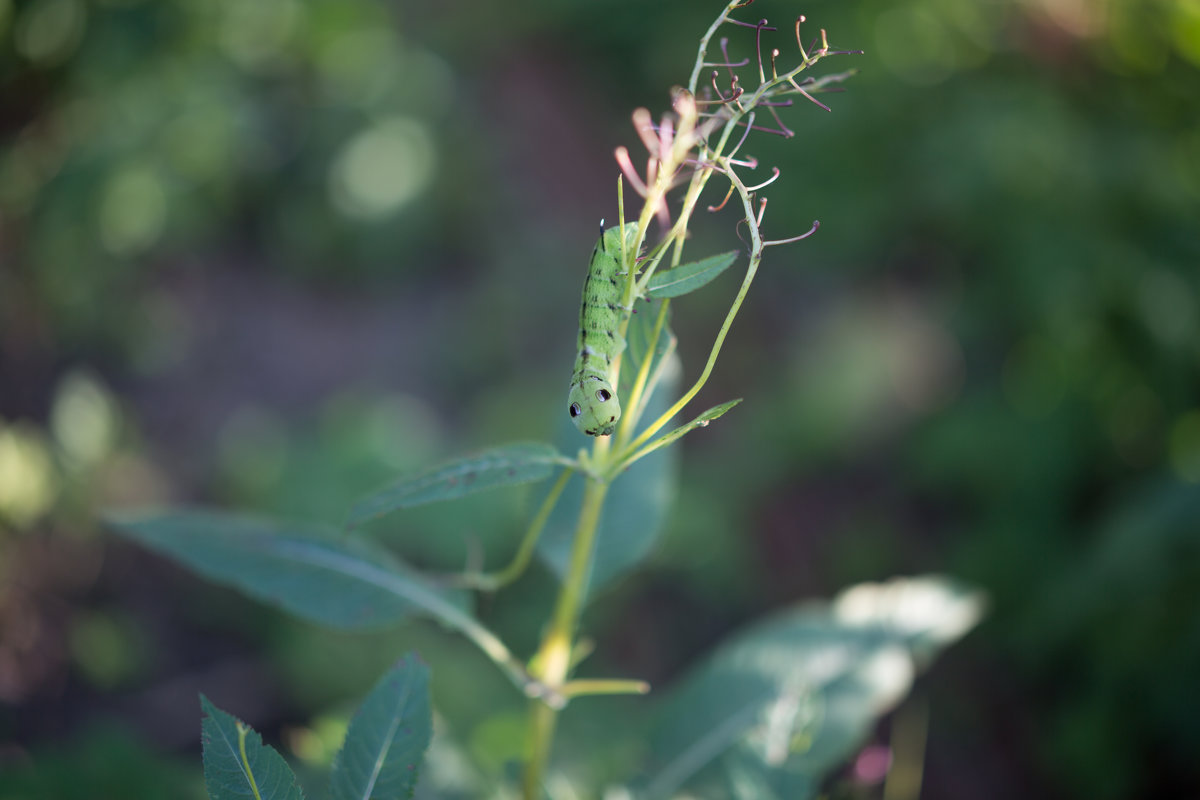
POLYGON ((350 720, 334 759, 331 796, 412 796, 432 735, 430 668, 408 654, 376 684, 350 720))

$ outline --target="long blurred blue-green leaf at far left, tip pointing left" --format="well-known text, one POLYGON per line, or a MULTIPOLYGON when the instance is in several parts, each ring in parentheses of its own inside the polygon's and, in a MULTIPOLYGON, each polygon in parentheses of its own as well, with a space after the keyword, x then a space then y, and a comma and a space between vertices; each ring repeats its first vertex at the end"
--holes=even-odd
POLYGON ((436 588, 355 535, 212 511, 114 519, 113 528, 217 583, 336 628, 379 628, 427 613, 474 621, 463 595, 436 588))

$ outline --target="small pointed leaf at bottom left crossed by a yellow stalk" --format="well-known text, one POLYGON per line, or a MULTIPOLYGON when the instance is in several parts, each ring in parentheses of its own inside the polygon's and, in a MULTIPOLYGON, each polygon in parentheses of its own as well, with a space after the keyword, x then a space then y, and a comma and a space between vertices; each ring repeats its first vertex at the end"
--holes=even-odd
POLYGON ((210 800, 304 800, 296 776, 241 720, 200 694, 204 788, 210 800))

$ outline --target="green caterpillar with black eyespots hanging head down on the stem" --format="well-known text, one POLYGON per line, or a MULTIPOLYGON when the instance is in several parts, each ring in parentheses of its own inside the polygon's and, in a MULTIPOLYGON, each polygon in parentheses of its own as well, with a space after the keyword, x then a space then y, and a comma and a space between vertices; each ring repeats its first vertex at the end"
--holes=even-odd
MULTIPOLYGON (((626 257, 632 260, 637 223, 625 224, 626 257)), ((608 228, 592 251, 580 303, 580 348, 571 373, 566 409, 575 427, 589 437, 607 437, 620 419, 620 401, 608 380, 612 360, 625 348, 618 327, 629 311, 622 305, 624 285, 619 228, 608 228)))

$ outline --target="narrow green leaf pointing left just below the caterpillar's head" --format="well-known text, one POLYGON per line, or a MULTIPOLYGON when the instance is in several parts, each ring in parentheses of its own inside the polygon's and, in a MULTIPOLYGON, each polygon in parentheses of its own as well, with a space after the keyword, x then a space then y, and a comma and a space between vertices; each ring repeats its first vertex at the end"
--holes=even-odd
POLYGON ((454 500, 475 492, 550 477, 564 458, 538 441, 518 441, 474 456, 457 458, 409 477, 359 500, 349 525, 358 527, 385 513, 426 503, 454 500))

